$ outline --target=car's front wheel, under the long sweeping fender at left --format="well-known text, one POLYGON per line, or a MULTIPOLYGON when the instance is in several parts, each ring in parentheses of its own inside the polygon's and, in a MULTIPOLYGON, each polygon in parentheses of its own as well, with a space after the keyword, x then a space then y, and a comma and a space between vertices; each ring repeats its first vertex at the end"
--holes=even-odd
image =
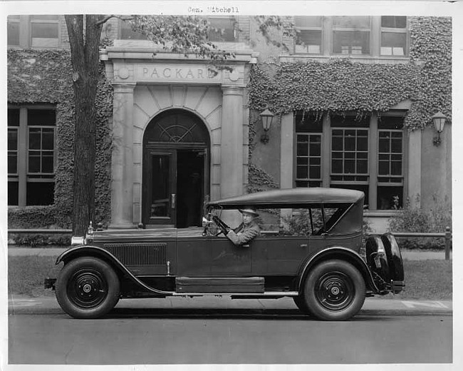
POLYGON ((72 260, 56 280, 56 299, 74 318, 97 318, 118 303, 118 275, 105 261, 93 257, 72 260))

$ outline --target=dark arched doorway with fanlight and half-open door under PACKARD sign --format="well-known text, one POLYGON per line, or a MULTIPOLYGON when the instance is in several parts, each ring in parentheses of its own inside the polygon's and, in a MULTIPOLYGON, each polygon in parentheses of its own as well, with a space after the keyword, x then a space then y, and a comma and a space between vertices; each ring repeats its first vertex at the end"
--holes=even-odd
POLYGON ((209 197, 209 133, 193 113, 165 111, 143 136, 142 223, 187 228, 201 225, 209 197))

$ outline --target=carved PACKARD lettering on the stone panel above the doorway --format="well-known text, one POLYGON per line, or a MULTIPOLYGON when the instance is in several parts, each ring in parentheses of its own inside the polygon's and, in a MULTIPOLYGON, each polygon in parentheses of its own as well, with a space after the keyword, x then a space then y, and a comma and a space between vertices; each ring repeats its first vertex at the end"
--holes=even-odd
POLYGON ((219 81, 221 73, 207 67, 194 66, 138 66, 137 78, 149 81, 219 81))

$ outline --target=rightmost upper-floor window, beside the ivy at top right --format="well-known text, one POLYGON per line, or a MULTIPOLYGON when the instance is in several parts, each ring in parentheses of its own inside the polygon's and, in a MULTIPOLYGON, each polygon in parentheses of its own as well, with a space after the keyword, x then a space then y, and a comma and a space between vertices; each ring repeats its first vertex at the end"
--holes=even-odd
POLYGON ((407 17, 381 17, 382 56, 405 56, 407 54, 407 17))

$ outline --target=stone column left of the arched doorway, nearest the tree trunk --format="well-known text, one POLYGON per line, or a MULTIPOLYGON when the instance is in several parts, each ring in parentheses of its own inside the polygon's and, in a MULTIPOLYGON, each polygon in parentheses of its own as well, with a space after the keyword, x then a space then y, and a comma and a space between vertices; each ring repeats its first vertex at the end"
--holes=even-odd
POLYGON ((133 203, 133 90, 115 83, 110 228, 131 228, 133 203))

